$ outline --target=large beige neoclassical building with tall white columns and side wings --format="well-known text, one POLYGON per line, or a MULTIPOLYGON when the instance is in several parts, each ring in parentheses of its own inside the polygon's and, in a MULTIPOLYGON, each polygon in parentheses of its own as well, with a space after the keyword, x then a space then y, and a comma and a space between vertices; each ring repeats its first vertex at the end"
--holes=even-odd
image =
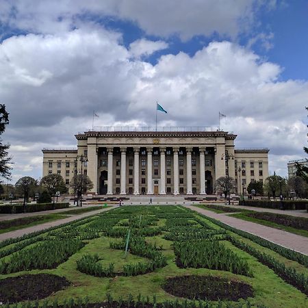
POLYGON ((78 133, 77 149, 43 149, 43 176, 68 185, 83 172, 92 194, 214 194, 219 177, 233 177, 238 192, 268 177, 268 149, 235 149, 227 131, 96 129, 78 133))

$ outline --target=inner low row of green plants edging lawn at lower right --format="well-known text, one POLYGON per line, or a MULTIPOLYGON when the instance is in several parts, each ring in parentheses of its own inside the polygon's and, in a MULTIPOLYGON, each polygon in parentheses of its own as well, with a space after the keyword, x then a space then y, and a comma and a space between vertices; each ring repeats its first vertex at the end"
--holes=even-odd
POLYGON ((246 251, 249 255, 253 255, 256 257, 259 262, 272 268, 274 272, 281 277, 290 285, 293 285, 298 290, 303 292, 308 296, 308 277, 303 273, 298 273, 295 268, 287 267, 285 264, 277 261, 274 257, 267 255, 266 253, 261 253, 257 249, 253 248, 252 246, 245 244, 244 242, 237 240, 229 235, 228 240, 236 247, 246 251))

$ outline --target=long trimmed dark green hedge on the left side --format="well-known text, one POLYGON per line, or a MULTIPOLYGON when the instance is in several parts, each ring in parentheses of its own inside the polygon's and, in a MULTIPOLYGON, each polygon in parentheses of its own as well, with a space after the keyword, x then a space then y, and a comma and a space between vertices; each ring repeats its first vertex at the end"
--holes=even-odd
MULTIPOLYGON (((55 203, 54 209, 65 209, 69 203, 55 203)), ((28 203, 25 207, 27 213, 34 211, 49 211, 53 209, 53 203, 28 203)), ((0 205, 0 214, 19 214, 23 213, 23 205, 0 205)))

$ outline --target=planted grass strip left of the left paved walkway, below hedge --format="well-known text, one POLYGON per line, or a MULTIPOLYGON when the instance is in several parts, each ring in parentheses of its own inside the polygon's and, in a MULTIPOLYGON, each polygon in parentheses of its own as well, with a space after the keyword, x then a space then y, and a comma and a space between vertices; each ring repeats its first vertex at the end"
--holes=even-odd
POLYGON ((42 216, 30 216, 12 220, 3 220, 0 222, 0 234, 19 229, 24 229, 27 227, 33 227, 36 226, 37 224, 44 224, 45 222, 60 220, 66 217, 68 216, 59 214, 48 214, 42 216))

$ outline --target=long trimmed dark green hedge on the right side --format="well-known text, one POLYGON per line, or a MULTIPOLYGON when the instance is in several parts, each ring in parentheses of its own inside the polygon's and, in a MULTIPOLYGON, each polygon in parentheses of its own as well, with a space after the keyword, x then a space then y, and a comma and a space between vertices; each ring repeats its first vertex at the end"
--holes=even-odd
MULTIPOLYGON (((248 207, 264 207, 266 209, 280 209, 281 201, 240 200, 239 205, 246 205, 248 207)), ((283 209, 306 209, 308 201, 288 200, 288 201, 282 201, 282 205, 283 209)))

